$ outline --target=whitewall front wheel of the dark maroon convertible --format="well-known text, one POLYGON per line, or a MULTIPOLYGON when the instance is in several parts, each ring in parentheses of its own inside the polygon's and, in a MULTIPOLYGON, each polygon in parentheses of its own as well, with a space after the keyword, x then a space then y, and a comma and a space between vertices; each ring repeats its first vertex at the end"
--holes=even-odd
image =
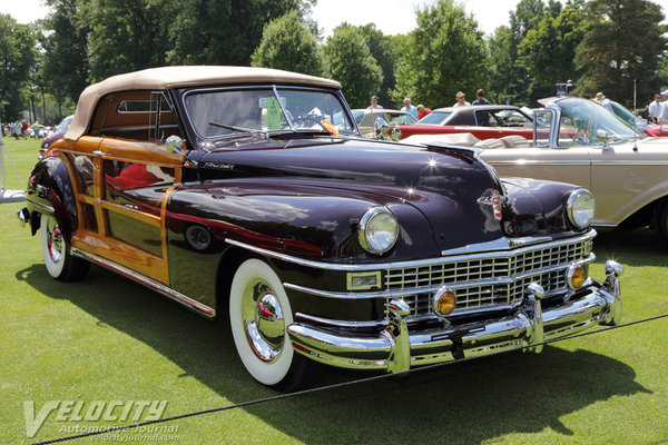
POLYGON ((246 259, 229 291, 229 325, 246 370, 263 385, 294 390, 320 376, 313 360, 295 353, 286 327, 293 322, 281 279, 265 261, 246 259))

